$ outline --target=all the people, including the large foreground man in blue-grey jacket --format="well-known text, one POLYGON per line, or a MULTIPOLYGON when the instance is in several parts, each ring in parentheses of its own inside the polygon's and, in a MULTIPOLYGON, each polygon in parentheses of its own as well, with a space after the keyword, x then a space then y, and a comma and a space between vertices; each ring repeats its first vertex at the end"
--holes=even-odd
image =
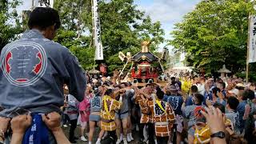
POLYGON ((1 52, 1 144, 126 144, 134 134, 149 144, 255 142, 255 83, 166 74, 165 85, 138 86, 117 73, 91 78, 70 50, 51 41, 61 26, 57 10, 35 8, 28 26, 1 52))

